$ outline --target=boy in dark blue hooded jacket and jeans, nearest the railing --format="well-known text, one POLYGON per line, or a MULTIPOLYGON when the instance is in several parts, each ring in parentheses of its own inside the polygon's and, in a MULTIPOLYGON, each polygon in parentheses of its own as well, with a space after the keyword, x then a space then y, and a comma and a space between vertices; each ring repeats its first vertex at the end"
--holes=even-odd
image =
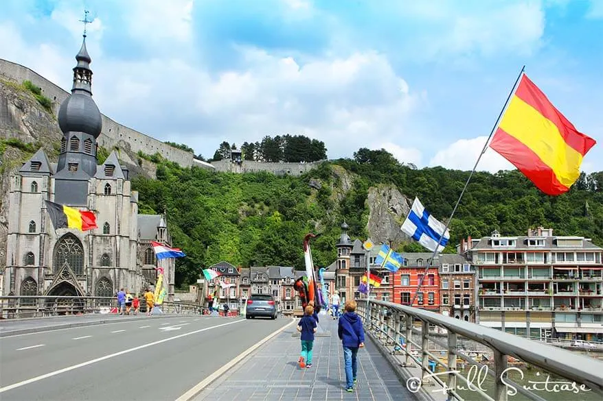
POLYGON ((345 302, 345 313, 339 318, 339 339, 343 344, 343 361, 345 362, 345 390, 354 391, 356 382, 356 354, 364 347, 364 328, 359 315, 356 315, 356 301, 345 302))

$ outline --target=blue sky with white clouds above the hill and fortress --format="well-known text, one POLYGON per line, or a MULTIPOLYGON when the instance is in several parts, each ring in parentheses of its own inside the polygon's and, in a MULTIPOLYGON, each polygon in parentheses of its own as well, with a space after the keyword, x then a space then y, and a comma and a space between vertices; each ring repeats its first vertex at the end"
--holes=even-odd
MULTIPOLYGON (((2 0, 0 58, 71 88, 83 10, 101 112, 211 158, 266 135, 470 170, 519 71, 598 145, 603 0, 2 0)), ((478 170, 513 169, 488 149, 478 170)))

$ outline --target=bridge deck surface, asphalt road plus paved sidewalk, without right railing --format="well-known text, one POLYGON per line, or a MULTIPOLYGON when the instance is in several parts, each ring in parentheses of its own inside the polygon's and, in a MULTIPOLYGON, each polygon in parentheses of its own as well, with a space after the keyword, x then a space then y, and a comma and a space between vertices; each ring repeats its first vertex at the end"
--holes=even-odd
MULTIPOLYGON (((73 318, 54 324, 60 327, 73 318)), ((296 364, 297 320, 195 315, 96 319, 110 323, 10 335, 23 331, 23 325, 30 331, 36 323, 48 329, 52 319, 1 321, 0 400, 414 399, 370 341, 359 353, 356 391, 346 393, 332 319, 321 321, 331 335, 317 337, 314 365, 303 370, 296 364), (271 338, 262 344, 266 337, 271 338)))

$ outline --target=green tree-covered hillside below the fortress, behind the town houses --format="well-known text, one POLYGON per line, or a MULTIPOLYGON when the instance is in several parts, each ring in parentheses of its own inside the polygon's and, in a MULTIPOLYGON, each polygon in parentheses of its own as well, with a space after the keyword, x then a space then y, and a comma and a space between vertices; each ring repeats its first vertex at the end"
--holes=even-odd
MULTIPOLYGON (((177 260, 177 285, 183 285, 219 260, 301 268, 307 232, 323 234, 313 242, 312 254, 317 265, 329 265, 344 219, 352 238, 370 234, 366 200, 371 186, 394 184, 410 201, 418 196, 435 217, 447 219, 467 177, 467 171, 416 169, 387 151, 360 149, 353 159, 324 163, 296 178, 213 173, 161 162, 157 180, 136 178, 133 185, 140 192, 141 212, 167 211, 173 244, 187 254, 177 260), (343 192, 334 173, 341 167, 354 177, 343 192)), ((451 244, 494 229, 525 235, 536 226, 587 236, 603 246, 603 172, 582 174, 569 193, 558 197, 543 195, 519 171, 476 173, 451 222, 451 244)), ((422 249, 412 243, 401 247, 422 249)))

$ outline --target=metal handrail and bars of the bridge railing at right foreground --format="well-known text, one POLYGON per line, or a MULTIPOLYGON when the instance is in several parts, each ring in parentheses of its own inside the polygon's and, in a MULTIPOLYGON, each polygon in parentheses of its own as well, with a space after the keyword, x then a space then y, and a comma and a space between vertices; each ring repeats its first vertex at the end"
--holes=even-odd
MULTIPOLYGON (((458 335, 481 343, 482 345, 486 345, 488 348, 492 349, 494 351, 495 365, 497 361, 499 361, 499 365, 501 365, 497 366, 495 369, 497 374, 506 368, 506 356, 514 356, 516 359, 520 359, 535 367, 540 367, 546 372, 566 378, 579 385, 585 385, 592 391, 603 394, 603 363, 588 356, 582 356, 546 343, 532 341, 494 328, 480 326, 479 324, 462 321, 431 311, 425 311, 420 308, 377 300, 356 300, 356 302, 359 305, 359 313, 367 324, 367 330, 376 331, 380 335, 385 335, 386 337, 389 337, 389 340, 394 341, 396 344, 398 343, 398 337, 405 338, 405 343, 409 344, 409 346, 406 349, 402 349, 402 352, 407 354, 407 363, 410 359, 415 359, 411 356, 411 351, 409 350, 410 348, 413 348, 412 345, 417 345, 418 348, 414 348, 414 350, 422 352, 423 359, 428 360, 429 358, 432 358, 429 349, 427 349, 428 341, 438 345, 444 345, 442 344, 442 340, 437 341, 430 337, 433 336, 433 333, 429 332, 429 325, 431 324, 448 331, 448 355, 452 356, 448 358, 448 368, 451 368, 451 370, 456 370, 457 357, 462 358, 473 365, 480 365, 473 360, 469 361, 467 356, 462 355, 462 352, 457 352, 456 344, 458 335), (387 319, 384 319, 384 309, 389 310, 389 313, 391 313, 389 319, 394 321, 393 327, 390 322, 386 322, 387 319), (405 319, 405 325, 402 324, 402 317, 405 319), (414 319, 418 319, 422 322, 422 330, 417 330, 414 327, 414 319), (395 332, 395 337, 390 335, 390 331, 395 332), (422 343, 416 344, 412 341, 413 332, 421 333, 422 343), (411 338, 407 338, 409 336, 411 338), (454 361, 451 361, 451 359, 454 359, 454 361)), ((445 342, 445 340, 443 342, 445 342)), ((439 362, 440 365, 444 365, 441 361, 437 362, 439 362)), ((426 376, 424 371, 425 369, 429 369, 428 361, 422 361, 420 365, 422 365, 422 375, 426 376)), ((455 375, 451 374, 451 376, 455 375)), ((494 379, 497 380, 496 377, 494 379)), ((454 378, 450 378, 449 380, 455 383, 455 381, 453 381, 455 380, 454 378)), ((440 382, 441 380, 436 379, 435 381, 440 382)), ((490 398, 484 393, 482 393, 482 396, 485 396, 485 398, 490 400, 506 399, 506 394, 504 394, 503 398, 503 393, 501 393, 501 388, 499 388, 501 387, 501 383, 496 381, 495 385, 497 388, 495 389, 496 394, 494 398, 490 398)), ((527 391, 523 389, 519 389, 519 391, 534 400, 542 400, 539 396, 527 394, 527 391)), ((481 391, 478 392, 481 393, 481 391)), ((448 390, 448 394, 449 396, 459 398, 454 389, 448 390)))

